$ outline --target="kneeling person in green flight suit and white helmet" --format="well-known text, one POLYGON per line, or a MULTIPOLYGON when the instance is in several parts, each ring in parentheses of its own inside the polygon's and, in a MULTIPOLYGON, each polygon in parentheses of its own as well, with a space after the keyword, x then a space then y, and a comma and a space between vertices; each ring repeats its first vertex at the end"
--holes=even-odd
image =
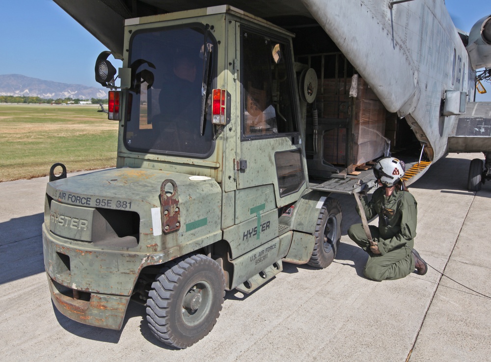
MULTIPOLYGON (((372 280, 404 278, 416 269, 425 275, 427 265, 414 248, 416 236, 417 202, 404 185, 404 162, 384 157, 374 166, 374 175, 381 186, 368 201, 360 198, 367 220, 379 216, 379 226, 369 225, 375 246, 370 246, 362 224, 348 230, 350 238, 369 255, 363 269, 372 280), (408 248, 409 247, 409 248, 408 248)), ((356 207, 358 214, 360 210, 356 207)))

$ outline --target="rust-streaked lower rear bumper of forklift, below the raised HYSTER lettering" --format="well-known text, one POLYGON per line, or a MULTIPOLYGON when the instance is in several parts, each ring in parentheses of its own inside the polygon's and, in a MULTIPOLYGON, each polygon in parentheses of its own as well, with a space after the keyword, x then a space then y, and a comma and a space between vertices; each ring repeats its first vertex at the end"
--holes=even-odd
POLYGON ((56 308, 75 321, 120 330, 144 255, 97 250, 89 243, 60 238, 45 224, 42 229, 45 269, 56 308))

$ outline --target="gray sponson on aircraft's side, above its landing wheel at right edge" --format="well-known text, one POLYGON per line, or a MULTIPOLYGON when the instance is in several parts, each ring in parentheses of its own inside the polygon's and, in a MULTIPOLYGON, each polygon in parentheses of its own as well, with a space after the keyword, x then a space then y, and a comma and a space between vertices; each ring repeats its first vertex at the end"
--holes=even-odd
POLYGON ((448 152, 491 152, 491 102, 468 102, 448 136, 448 152))

